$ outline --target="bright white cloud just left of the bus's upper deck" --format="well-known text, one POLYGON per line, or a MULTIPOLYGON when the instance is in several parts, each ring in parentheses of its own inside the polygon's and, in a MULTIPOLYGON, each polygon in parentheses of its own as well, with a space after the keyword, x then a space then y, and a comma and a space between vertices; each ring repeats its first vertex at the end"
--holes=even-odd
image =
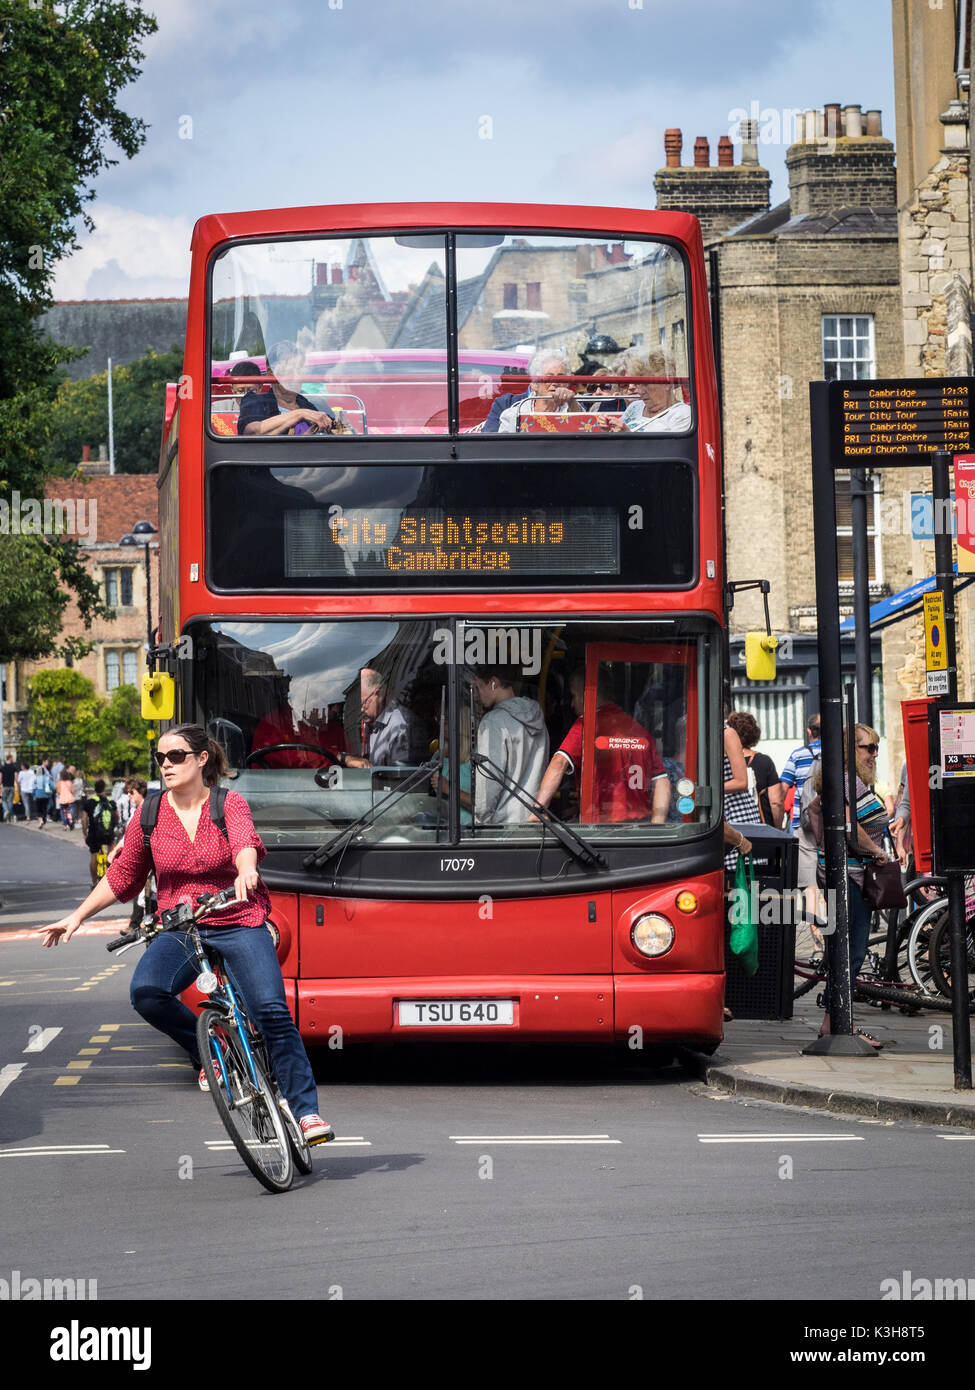
POLYGON ((191 234, 186 217, 153 217, 96 203, 95 231, 58 265, 54 297, 184 297, 189 288, 191 234))

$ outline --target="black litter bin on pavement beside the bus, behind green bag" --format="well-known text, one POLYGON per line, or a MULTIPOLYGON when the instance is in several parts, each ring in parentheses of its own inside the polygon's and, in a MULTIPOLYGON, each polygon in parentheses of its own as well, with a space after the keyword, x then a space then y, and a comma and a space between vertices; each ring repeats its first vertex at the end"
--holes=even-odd
POLYGON ((736 1019, 791 1019, 798 842, 789 830, 772 826, 740 826, 736 821, 734 828, 751 840, 759 916, 758 970, 755 974, 746 974, 729 951, 732 929, 726 913, 725 1004, 736 1019))

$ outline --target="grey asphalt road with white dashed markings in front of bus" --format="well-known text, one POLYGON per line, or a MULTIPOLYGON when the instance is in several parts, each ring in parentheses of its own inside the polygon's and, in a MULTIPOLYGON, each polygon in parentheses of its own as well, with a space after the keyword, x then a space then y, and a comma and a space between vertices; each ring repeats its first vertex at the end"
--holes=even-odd
POLYGON ((910 1270, 975 1295, 968 1133, 709 1095, 638 1054, 319 1051, 338 1140, 264 1193, 132 1012, 135 951, 85 930, 43 951, 0 922, 0 1279, 153 1302, 846 1304, 910 1270))

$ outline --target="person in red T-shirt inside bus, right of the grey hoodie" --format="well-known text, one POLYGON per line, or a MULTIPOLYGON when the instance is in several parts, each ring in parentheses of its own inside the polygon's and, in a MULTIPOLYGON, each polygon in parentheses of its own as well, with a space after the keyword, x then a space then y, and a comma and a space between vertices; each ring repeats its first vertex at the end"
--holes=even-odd
MULTIPOLYGON (((581 784, 583 759, 591 756, 583 737, 586 671, 569 678, 572 708, 579 716, 545 769, 538 791, 538 805, 548 806, 567 771, 581 784)), ((670 778, 652 734, 631 719, 609 698, 611 691, 599 671, 597 684, 594 799, 597 821, 647 820, 666 823, 670 810, 670 778), (616 744, 616 746, 613 746, 616 744)))

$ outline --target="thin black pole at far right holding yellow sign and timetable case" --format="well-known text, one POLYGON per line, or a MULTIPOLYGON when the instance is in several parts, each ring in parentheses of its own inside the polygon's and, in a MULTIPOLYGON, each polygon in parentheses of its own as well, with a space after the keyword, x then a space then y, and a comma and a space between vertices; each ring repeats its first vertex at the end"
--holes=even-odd
MULTIPOLYGON (((932 507, 935 520, 935 584, 944 600, 944 653, 947 657, 947 695, 940 709, 958 702, 958 663, 956 652, 954 573, 951 567, 951 489, 949 467, 951 455, 930 456, 932 507)), ((968 956, 965 922, 965 876, 949 869, 949 933, 951 938, 951 1047, 956 1091, 972 1088, 972 1040, 968 1015, 968 956)))

